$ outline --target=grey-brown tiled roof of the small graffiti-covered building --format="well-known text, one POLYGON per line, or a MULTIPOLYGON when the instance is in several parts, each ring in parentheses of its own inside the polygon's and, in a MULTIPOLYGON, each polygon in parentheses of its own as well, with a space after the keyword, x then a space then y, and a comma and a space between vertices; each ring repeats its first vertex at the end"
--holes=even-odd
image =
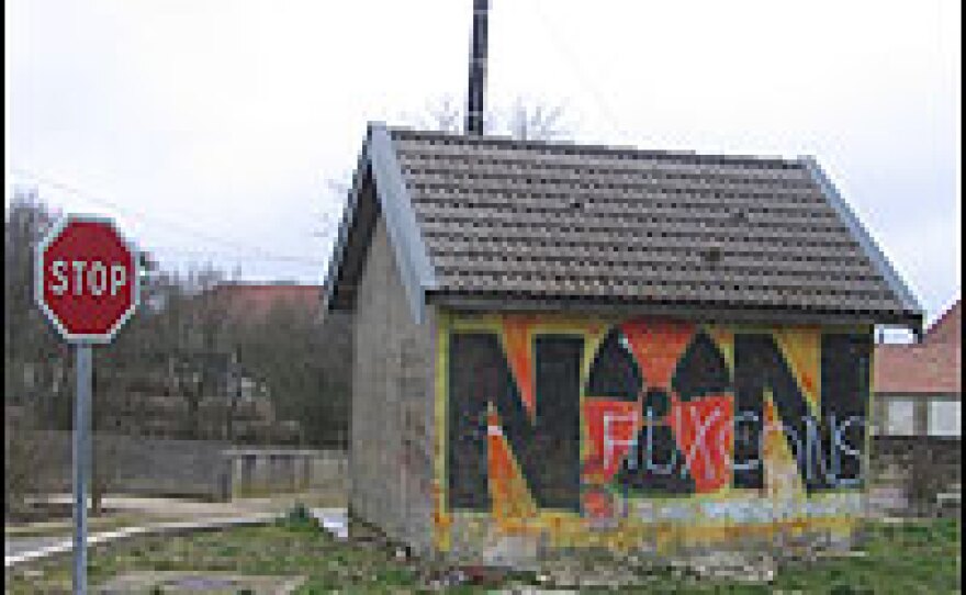
MULTIPOLYGON (((404 281, 419 285, 409 291, 417 308, 424 299, 457 296, 496 308, 564 300, 865 323, 918 325, 921 317, 807 158, 371 126, 357 176, 362 171, 372 172, 370 193, 405 252, 404 281)), ((362 194, 360 180, 353 194, 362 194)), ((355 209, 347 210, 330 270, 337 306, 352 300, 347 277, 359 268, 357 259, 350 272, 339 270, 339 252, 352 244, 348 236, 368 237, 352 221, 355 209)), ((372 209, 359 210, 371 221, 372 209)))

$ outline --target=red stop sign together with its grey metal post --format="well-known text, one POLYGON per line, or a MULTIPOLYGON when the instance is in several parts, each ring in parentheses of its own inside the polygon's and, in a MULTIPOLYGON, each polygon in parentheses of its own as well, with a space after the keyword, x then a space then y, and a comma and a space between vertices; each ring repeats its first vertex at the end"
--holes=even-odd
POLYGON ((141 294, 137 250, 110 220, 68 215, 37 246, 37 306, 75 346, 74 593, 87 593, 87 493, 91 472, 91 348, 109 344, 141 294))

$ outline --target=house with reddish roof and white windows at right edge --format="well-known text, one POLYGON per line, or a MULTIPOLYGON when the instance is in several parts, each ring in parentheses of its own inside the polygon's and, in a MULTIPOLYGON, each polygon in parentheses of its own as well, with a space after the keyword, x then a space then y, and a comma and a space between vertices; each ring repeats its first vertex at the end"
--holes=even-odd
POLYGON ((875 434, 954 436, 963 431, 962 302, 921 343, 875 348, 875 434))

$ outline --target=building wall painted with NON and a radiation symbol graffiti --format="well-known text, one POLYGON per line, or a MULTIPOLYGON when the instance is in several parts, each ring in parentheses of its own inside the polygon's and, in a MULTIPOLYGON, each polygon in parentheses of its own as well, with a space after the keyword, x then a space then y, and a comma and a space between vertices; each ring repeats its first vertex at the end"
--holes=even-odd
POLYGON ((441 313, 437 341, 451 558, 842 543, 863 514, 868 327, 441 313))

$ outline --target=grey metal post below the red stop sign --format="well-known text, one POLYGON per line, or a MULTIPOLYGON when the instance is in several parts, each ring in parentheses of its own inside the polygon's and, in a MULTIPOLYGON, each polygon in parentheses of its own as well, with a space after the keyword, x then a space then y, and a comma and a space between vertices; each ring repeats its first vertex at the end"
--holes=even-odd
POLYGON ((87 483, 90 473, 91 346, 78 343, 74 403, 74 593, 87 593, 87 483))

